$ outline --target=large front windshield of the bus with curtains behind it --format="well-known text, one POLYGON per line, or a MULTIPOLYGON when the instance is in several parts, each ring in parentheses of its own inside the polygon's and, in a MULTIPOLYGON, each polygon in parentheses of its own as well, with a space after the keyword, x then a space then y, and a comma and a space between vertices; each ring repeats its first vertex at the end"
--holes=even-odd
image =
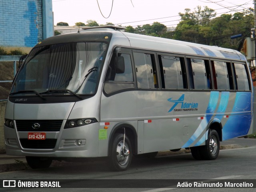
POLYGON ((106 48, 107 44, 103 42, 36 47, 22 65, 10 95, 31 95, 33 91, 39 94, 94 94, 106 48))

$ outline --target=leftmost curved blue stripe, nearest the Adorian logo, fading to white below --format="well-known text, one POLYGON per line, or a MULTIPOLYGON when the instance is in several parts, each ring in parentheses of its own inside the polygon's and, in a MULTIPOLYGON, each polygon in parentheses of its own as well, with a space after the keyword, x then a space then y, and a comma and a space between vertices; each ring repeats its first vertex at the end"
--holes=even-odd
POLYGON ((211 91, 208 107, 206 109, 206 115, 205 118, 201 121, 200 125, 196 129, 195 133, 190 137, 190 139, 185 143, 182 148, 186 148, 190 146, 204 131, 204 129, 207 127, 210 119, 212 118, 212 115, 217 107, 219 99, 219 92, 218 91, 211 91))

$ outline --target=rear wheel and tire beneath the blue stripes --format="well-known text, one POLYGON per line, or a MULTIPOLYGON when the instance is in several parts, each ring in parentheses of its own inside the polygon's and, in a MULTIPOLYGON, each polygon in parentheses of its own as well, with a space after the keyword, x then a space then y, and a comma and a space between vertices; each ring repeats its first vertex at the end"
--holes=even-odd
POLYGON ((214 160, 220 152, 220 138, 216 130, 208 131, 208 139, 206 145, 201 146, 201 154, 204 160, 214 160))

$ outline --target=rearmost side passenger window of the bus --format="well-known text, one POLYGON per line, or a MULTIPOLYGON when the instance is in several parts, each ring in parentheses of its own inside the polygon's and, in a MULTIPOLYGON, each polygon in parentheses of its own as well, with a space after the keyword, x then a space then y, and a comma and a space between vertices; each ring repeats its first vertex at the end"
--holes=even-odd
POLYGON ((250 84, 248 73, 246 72, 246 65, 241 63, 232 63, 235 76, 236 90, 250 91, 250 84))

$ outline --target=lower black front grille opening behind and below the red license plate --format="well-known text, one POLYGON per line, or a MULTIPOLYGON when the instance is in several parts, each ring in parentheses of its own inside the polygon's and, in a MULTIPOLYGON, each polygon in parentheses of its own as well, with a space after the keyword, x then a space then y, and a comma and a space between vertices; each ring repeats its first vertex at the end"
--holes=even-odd
POLYGON ((20 144, 23 148, 34 149, 52 149, 55 147, 57 139, 45 139, 45 140, 29 140, 20 139, 20 144))

